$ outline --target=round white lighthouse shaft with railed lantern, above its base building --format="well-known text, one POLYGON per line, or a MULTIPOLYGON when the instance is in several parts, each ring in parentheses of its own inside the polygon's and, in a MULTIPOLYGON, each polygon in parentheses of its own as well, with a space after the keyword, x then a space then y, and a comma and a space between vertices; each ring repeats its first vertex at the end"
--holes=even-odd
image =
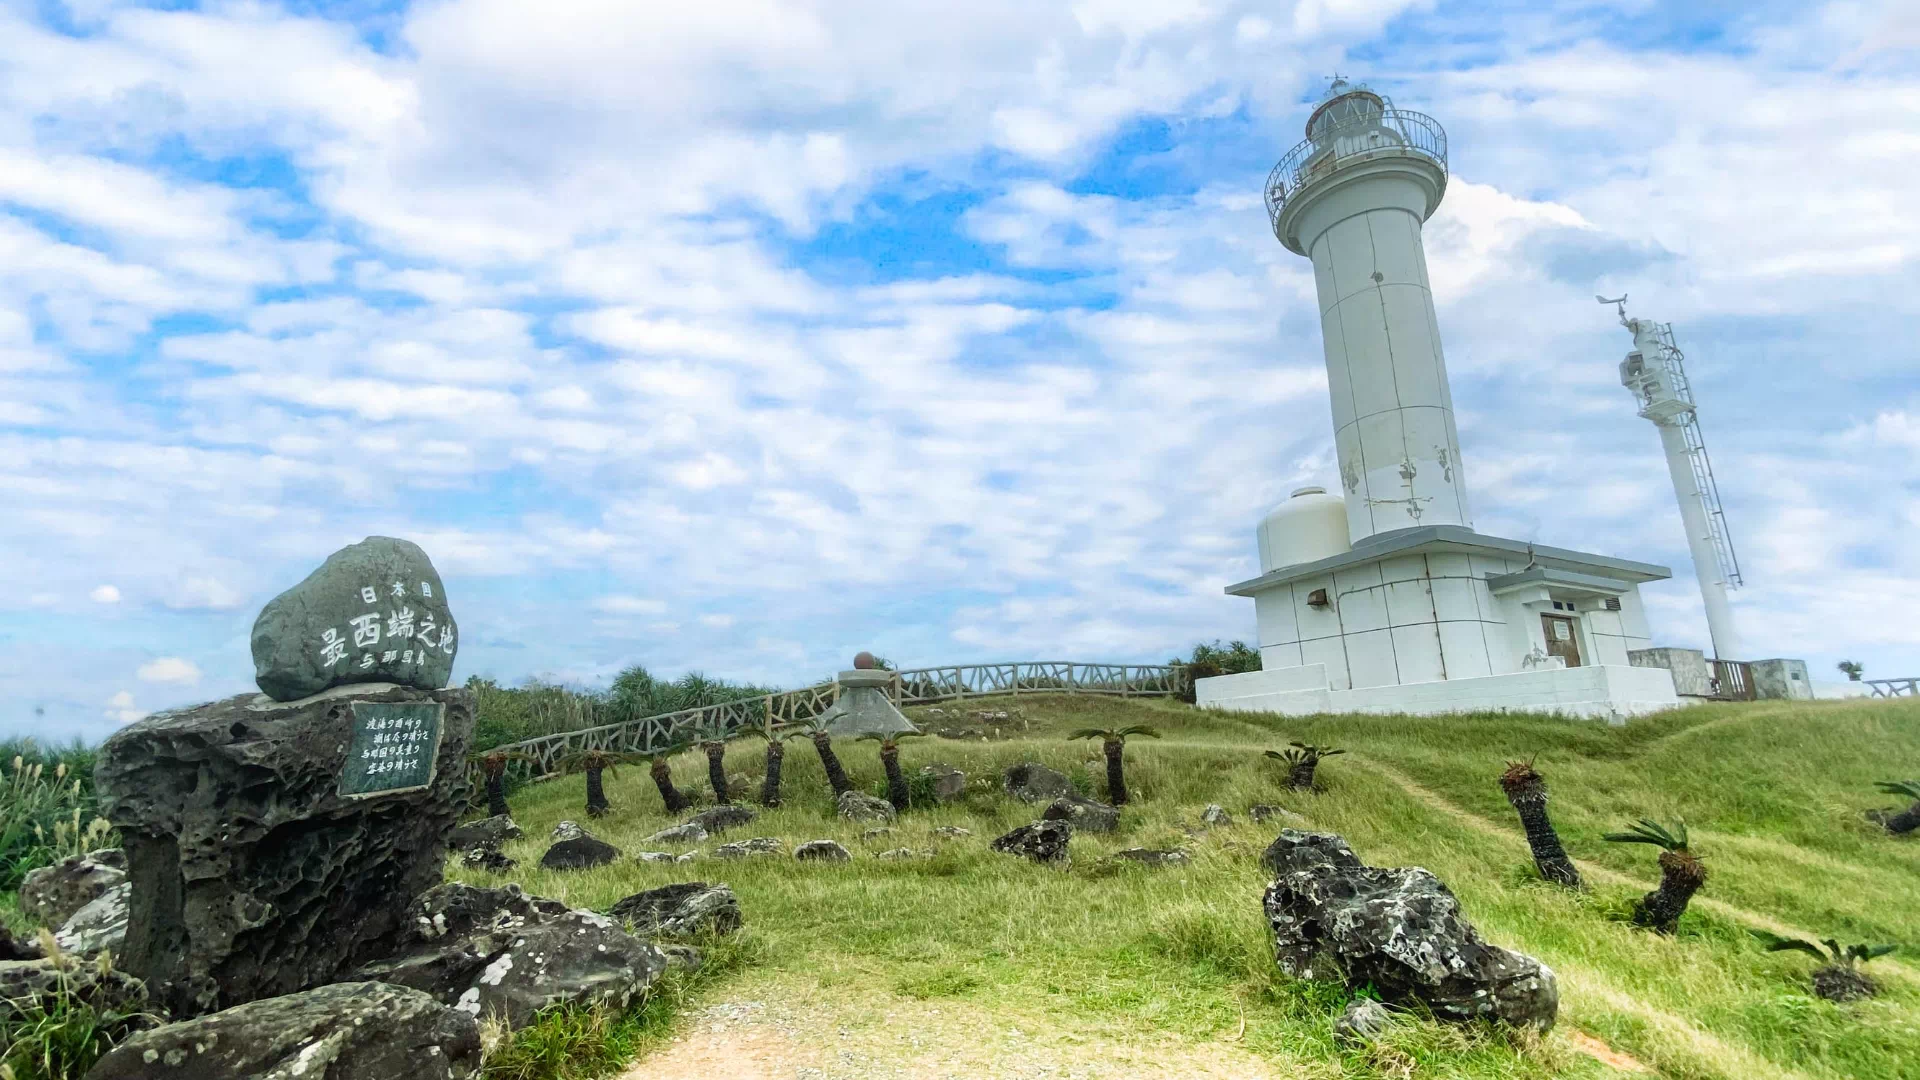
POLYGON ((1269 192, 1275 234, 1313 259, 1334 452, 1352 542, 1473 527, 1421 225, 1446 192, 1446 136, 1338 83, 1269 192), (1300 161, 1300 163, 1292 163, 1300 161), (1279 202, 1277 202, 1279 198, 1279 202))

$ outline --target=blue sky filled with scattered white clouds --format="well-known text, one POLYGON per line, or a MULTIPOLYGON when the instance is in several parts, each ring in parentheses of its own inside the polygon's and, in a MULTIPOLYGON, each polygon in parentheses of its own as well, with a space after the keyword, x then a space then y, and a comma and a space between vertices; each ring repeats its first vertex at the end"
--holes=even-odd
POLYGON ((1751 651, 1920 673, 1907 4, 0 0, 0 732, 250 690, 369 534, 455 678, 1252 636, 1332 471, 1260 202, 1332 71, 1450 133, 1476 527, 1674 567, 1705 644, 1628 292, 1751 651))

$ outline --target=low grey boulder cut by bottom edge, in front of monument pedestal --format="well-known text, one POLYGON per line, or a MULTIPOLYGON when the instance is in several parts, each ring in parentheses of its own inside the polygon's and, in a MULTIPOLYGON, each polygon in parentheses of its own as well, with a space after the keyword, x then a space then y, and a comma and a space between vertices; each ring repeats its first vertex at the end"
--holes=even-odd
POLYGON ((467 1080, 480 1024, 419 990, 338 982, 140 1032, 86 1080, 467 1080))

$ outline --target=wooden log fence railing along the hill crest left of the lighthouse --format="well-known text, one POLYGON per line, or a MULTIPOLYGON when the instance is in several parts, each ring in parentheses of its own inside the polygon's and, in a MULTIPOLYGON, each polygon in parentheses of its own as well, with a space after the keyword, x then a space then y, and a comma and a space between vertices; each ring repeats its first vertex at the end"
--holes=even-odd
MULTIPOLYGON (((1119 698, 1167 698, 1187 686, 1181 665, 1127 663, 970 663, 956 667, 922 667, 893 676, 897 705, 925 705, 956 698, 985 698, 993 694, 1106 694, 1119 698)), ((749 730, 768 730, 778 724, 806 721, 828 711, 839 698, 839 682, 820 682, 785 694, 743 698, 720 705, 637 717, 559 732, 493 749, 526 755, 507 763, 516 776, 545 776, 584 749, 612 749, 624 753, 657 753, 707 738, 733 738, 749 730)), ((478 765, 472 767, 478 771, 478 765)), ((480 790, 480 776, 474 776, 480 790)))

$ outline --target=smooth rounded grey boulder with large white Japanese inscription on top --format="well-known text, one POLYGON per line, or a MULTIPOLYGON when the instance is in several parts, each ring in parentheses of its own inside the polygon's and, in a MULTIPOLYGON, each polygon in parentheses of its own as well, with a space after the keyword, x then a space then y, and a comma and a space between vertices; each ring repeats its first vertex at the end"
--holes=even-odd
POLYGON ((349 682, 440 690, 457 632, 419 544, 369 536, 275 596, 253 621, 253 680, 275 701, 349 682))

